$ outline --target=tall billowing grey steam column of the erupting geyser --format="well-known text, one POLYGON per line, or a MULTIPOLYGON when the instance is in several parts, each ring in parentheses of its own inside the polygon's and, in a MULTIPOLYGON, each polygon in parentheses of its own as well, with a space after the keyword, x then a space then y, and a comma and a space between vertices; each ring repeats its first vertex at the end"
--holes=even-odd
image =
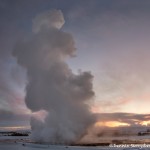
POLYGON ((46 112, 44 120, 31 118, 32 136, 43 142, 77 142, 95 122, 88 106, 94 96, 93 76, 90 72, 75 75, 66 64, 76 48, 73 37, 61 30, 63 24, 59 10, 38 15, 31 38, 19 42, 13 52, 27 70, 27 107, 46 112))

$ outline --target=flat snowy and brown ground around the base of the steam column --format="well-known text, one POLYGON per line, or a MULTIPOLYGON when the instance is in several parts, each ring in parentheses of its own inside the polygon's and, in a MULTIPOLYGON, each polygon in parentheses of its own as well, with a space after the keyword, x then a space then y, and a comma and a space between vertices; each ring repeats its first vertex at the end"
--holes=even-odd
MULTIPOLYGON (((115 129, 115 132, 123 129, 115 129)), ((125 129, 126 131, 129 129, 125 129)), ((133 130, 133 129, 131 129, 133 130)), ((130 130, 130 132, 131 132, 130 130)), ((139 128, 134 129, 135 132, 139 128)), ((150 135, 138 136, 136 133, 123 135, 122 132, 117 136, 113 134, 114 129, 110 129, 103 136, 94 135, 87 142, 80 143, 49 143, 35 141, 31 136, 31 131, 2 131, 0 132, 0 150, 149 150, 150 135)))

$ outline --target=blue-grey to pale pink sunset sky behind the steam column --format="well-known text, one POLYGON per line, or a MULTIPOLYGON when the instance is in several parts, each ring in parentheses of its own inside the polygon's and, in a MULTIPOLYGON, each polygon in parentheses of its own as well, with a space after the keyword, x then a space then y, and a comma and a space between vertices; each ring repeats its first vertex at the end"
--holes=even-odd
POLYGON ((94 76, 91 110, 107 121, 118 121, 118 115, 129 124, 148 121, 149 0, 0 0, 0 126, 29 126, 27 72, 12 53, 31 36, 35 16, 53 9, 62 11, 62 30, 75 41, 69 67, 94 76))

